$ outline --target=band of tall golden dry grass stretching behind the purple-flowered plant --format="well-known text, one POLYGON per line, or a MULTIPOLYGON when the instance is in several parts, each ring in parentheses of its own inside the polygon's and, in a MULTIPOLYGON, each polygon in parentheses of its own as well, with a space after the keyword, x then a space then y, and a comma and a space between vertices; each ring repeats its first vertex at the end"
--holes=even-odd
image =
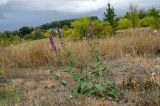
MULTIPOLYGON (((153 33, 152 29, 135 29, 117 32, 117 35, 99 39, 103 56, 121 57, 133 56, 158 56, 160 55, 160 32, 153 33)), ((68 50, 73 54, 87 59, 90 55, 86 41, 64 41, 68 50)), ((60 44, 55 39, 60 51, 60 44)), ((57 64, 53 51, 50 49, 48 39, 25 42, 4 48, 0 53, 3 63, 7 66, 40 66, 44 65, 44 57, 48 56, 53 64, 57 64)), ((64 52, 62 51, 62 55, 64 52)))

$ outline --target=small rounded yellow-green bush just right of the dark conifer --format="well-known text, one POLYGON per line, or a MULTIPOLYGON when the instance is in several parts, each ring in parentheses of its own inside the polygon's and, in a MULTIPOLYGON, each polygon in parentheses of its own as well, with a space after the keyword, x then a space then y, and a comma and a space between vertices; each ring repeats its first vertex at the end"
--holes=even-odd
POLYGON ((128 29, 132 27, 132 23, 128 19, 120 19, 118 22, 118 29, 128 29))

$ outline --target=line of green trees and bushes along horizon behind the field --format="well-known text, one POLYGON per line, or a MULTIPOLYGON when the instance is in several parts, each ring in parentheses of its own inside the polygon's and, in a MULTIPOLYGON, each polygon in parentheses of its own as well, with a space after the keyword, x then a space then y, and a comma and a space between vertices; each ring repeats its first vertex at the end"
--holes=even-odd
POLYGON ((48 30, 52 30, 53 33, 56 34, 56 27, 59 27, 62 30, 64 37, 81 39, 85 35, 84 30, 89 32, 89 19, 93 22, 94 33, 97 37, 113 35, 116 30, 121 29, 136 27, 160 28, 160 10, 154 7, 148 10, 138 10, 135 4, 130 4, 125 15, 118 17, 115 13, 114 7, 108 3, 104 12, 103 20, 100 20, 97 16, 92 16, 54 21, 38 27, 24 26, 19 30, 0 32, 0 44, 21 39, 43 39, 47 36, 46 32, 48 30))

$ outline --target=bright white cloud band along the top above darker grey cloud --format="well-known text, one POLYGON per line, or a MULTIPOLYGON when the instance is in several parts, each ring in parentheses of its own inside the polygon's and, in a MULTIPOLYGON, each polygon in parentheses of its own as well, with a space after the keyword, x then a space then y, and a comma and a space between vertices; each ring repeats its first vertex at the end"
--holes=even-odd
POLYGON ((111 2, 116 10, 126 10, 131 2, 142 8, 160 6, 159 0, 0 0, 0 5, 8 3, 17 10, 84 13, 105 8, 107 2, 111 2))

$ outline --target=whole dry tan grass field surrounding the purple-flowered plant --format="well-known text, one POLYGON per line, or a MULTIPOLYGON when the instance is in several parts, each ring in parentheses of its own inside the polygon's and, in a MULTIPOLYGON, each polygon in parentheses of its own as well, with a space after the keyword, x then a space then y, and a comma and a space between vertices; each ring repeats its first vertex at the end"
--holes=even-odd
MULTIPOLYGON (((11 106, 160 106, 160 31, 139 28, 118 31, 116 35, 98 39, 107 63, 109 78, 115 80, 122 95, 116 100, 78 96, 53 80, 50 70, 71 81, 58 65, 48 39, 25 41, 1 47, 0 62, 5 76, 20 89, 21 99, 11 106), (51 63, 48 68, 44 57, 51 63)), ((61 51, 58 39, 56 46, 61 51)), ((89 64, 89 47, 85 40, 64 39, 72 54, 89 64)), ((63 51, 61 52, 63 55, 63 51)), ((65 58, 65 57, 64 57, 65 58)))

